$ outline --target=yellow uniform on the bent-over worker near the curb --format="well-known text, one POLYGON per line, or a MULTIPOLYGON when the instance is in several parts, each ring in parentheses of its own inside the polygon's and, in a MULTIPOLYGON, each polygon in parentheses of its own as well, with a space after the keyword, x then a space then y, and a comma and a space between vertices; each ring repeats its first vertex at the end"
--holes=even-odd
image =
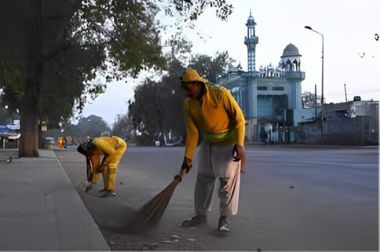
POLYGON ((117 166, 127 149, 127 144, 123 139, 115 136, 94 138, 92 143, 96 146, 96 150, 92 151, 89 155, 93 164, 93 177, 91 183, 96 184, 99 179, 99 173, 102 173, 104 189, 114 191, 117 166), (105 159, 99 167, 100 156, 104 154, 105 159))

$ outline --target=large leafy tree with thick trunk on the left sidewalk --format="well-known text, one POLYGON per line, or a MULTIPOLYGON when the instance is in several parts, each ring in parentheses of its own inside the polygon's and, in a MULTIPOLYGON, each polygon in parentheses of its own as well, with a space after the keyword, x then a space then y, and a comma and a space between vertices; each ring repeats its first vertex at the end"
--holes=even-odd
MULTIPOLYGON (((161 3, 190 21, 208 5, 222 19, 232 11, 224 0, 161 3)), ((158 11, 153 0, 0 1, 0 88, 9 91, 1 99, 20 111, 20 156, 38 156, 38 119, 65 120, 104 92, 96 76, 111 81, 164 64, 158 11)))

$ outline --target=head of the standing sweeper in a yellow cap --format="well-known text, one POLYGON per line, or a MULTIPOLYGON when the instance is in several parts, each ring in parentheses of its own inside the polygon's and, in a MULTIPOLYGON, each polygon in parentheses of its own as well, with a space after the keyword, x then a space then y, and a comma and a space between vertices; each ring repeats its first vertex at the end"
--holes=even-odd
POLYGON ((206 80, 202 79, 194 69, 187 69, 181 77, 181 87, 187 97, 201 99, 206 80))

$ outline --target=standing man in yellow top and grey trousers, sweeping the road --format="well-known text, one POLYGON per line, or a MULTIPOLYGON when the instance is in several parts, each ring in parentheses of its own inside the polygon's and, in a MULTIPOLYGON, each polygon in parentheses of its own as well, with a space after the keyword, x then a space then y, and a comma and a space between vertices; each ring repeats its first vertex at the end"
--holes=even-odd
POLYGON ((240 173, 245 172, 243 113, 231 93, 202 79, 193 69, 183 75, 187 140, 180 176, 189 172, 196 154, 197 178, 195 185, 195 216, 182 223, 193 227, 206 222, 206 212, 211 206, 214 186, 220 199, 218 230, 229 231, 232 215, 238 211, 240 173))

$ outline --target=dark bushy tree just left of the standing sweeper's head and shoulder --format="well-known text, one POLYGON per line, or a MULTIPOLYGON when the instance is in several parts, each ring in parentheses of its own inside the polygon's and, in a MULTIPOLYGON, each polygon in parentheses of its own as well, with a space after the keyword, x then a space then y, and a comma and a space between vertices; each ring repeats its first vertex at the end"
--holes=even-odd
POLYGON ((192 45, 181 33, 176 33, 164 46, 168 49, 165 54, 168 73, 159 82, 146 79, 135 89, 135 101, 129 105, 129 118, 135 128, 142 123, 151 140, 156 132, 174 130, 186 134, 179 78, 185 71, 185 55, 190 55, 192 45))

